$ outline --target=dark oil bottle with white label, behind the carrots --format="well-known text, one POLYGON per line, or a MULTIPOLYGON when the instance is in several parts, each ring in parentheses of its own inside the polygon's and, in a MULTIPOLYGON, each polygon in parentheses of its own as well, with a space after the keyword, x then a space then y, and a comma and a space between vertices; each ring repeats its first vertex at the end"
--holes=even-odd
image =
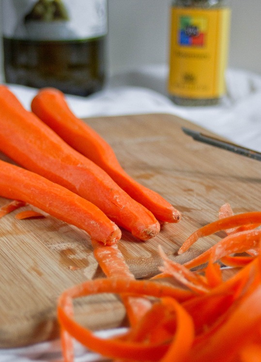
POLYGON ((100 90, 106 76, 107 0, 1 0, 7 83, 100 90))

